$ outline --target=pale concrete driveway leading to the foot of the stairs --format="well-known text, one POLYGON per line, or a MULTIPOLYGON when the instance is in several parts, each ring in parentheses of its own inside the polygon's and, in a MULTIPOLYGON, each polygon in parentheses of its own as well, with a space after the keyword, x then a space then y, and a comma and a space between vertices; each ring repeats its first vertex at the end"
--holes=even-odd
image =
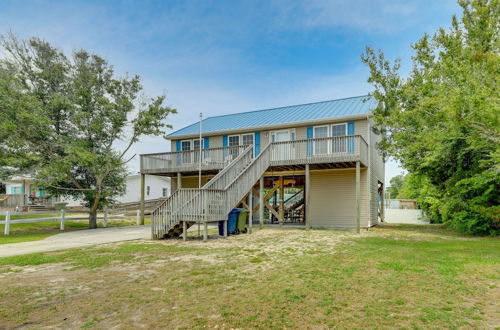
POLYGON ((22 254, 79 248, 89 245, 150 239, 151 226, 129 226, 76 230, 33 242, 0 245, 0 258, 22 254))

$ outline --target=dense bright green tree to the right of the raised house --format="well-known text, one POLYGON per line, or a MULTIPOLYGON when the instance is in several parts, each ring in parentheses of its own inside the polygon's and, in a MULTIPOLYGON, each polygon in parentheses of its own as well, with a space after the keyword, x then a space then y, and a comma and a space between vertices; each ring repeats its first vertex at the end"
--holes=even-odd
POLYGON ((435 221, 478 234, 500 230, 499 22, 497 0, 459 1, 451 27, 413 45, 413 68, 399 73, 382 51, 368 65, 379 147, 428 187, 435 221))

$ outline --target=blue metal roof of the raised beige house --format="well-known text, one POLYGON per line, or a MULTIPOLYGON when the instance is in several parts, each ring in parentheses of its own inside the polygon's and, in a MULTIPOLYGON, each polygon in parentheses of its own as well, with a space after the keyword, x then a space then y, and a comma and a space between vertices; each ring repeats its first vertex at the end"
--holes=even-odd
MULTIPOLYGON (((279 124, 292 124, 308 120, 349 117, 368 114, 375 109, 377 102, 368 96, 356 96, 344 99, 291 105, 281 108, 240 112, 230 115, 208 117, 203 120, 203 133, 265 127, 279 124)), ((198 134, 199 122, 181 128, 169 137, 198 134)))

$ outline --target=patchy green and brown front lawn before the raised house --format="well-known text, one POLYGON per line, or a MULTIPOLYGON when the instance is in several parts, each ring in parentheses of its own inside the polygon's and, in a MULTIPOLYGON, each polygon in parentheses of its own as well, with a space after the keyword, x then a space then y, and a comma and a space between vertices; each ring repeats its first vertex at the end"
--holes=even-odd
POLYGON ((494 328, 499 242, 392 225, 8 257, 0 318, 37 328, 494 328))

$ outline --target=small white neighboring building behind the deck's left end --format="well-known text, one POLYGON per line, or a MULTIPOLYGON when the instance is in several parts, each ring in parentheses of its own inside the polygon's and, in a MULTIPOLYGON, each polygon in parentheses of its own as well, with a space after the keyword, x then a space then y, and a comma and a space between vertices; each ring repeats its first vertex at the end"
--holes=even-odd
MULTIPOLYGON (((141 199, 141 176, 139 174, 127 177, 125 195, 117 198, 119 203, 138 202, 141 199)), ((144 199, 159 199, 170 196, 170 178, 156 175, 146 175, 144 199)))

